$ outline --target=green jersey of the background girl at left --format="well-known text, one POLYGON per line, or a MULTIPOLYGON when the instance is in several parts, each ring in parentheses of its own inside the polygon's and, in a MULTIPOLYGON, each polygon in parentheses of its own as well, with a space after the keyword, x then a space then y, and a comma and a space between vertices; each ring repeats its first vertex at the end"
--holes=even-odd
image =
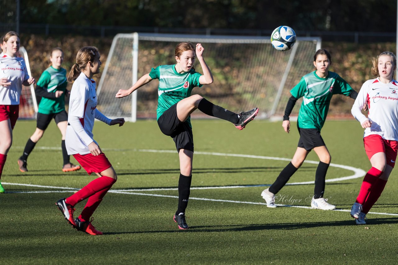
POLYGON ((50 66, 41 74, 37 85, 47 89, 47 92, 63 91, 61 97, 47 99, 43 97, 39 104, 39 112, 43 114, 53 114, 65 110, 65 92, 66 92, 66 70, 64 68, 55 69, 50 66))

